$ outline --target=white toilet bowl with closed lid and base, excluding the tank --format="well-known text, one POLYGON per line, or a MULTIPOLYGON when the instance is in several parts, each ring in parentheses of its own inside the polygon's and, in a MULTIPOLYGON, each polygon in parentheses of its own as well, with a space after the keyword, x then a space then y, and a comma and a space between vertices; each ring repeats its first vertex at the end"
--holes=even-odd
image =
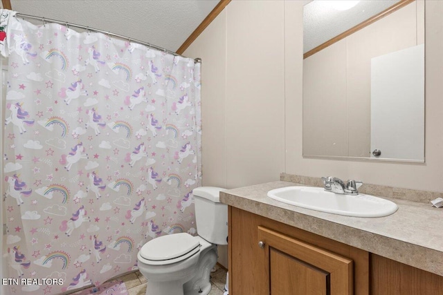
POLYGON ((138 269, 148 280, 146 294, 210 292, 209 275, 217 263, 217 251, 199 236, 181 233, 156 238, 138 251, 137 258, 138 269))

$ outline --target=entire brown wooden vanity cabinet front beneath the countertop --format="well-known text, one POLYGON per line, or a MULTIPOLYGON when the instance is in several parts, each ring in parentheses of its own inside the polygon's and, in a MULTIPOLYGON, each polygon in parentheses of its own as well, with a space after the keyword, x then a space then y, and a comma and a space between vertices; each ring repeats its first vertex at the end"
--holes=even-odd
POLYGON ((231 206, 228 222, 230 295, 443 295, 443 276, 231 206))

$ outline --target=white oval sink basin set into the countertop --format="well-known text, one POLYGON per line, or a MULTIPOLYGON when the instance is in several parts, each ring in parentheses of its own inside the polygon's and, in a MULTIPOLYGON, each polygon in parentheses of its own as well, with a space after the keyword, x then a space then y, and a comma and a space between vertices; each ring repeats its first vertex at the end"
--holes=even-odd
POLYGON ((268 191, 268 197, 306 209, 355 217, 383 217, 398 209, 390 200, 363 193, 342 195, 321 187, 282 187, 268 191))

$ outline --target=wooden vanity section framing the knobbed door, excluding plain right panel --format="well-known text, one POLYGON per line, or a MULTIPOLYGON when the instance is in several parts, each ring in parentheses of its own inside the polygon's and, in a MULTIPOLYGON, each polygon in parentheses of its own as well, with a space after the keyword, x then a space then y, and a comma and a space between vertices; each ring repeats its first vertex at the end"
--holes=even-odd
POLYGON ((229 294, 369 294, 369 254, 229 207, 229 294))

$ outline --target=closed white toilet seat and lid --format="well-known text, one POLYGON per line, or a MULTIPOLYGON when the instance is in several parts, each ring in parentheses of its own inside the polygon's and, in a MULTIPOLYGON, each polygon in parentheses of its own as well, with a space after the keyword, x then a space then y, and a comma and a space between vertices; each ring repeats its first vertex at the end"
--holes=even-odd
POLYGON ((199 251, 198 238, 180 233, 150 240, 141 247, 139 254, 147 265, 168 265, 185 260, 199 251))

